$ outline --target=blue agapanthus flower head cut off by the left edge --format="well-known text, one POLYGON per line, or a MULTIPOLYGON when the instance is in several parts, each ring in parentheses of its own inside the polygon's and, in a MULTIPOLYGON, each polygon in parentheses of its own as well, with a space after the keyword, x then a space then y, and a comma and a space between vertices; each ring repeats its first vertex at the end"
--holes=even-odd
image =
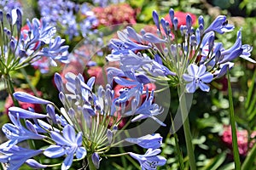
POLYGON ((27 29, 22 29, 22 12, 15 8, 9 13, 0 11, 0 76, 19 70, 26 65, 33 65, 42 56, 50 65, 57 65, 55 60, 68 63, 67 48, 61 37, 55 37, 55 27, 46 20, 36 18, 26 20, 27 29), (5 27, 9 26, 9 27, 5 27))

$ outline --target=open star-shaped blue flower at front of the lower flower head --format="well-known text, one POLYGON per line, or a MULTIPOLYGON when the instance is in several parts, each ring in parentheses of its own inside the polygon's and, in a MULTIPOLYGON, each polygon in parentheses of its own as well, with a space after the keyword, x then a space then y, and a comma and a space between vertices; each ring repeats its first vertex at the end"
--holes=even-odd
POLYGON ((76 135, 74 128, 70 125, 63 128, 62 135, 61 133, 52 131, 50 137, 56 144, 52 144, 44 150, 44 155, 50 158, 66 155, 67 157, 62 163, 61 170, 71 167, 74 154, 78 159, 84 158, 87 154, 85 148, 82 146, 82 133, 79 132, 76 135))

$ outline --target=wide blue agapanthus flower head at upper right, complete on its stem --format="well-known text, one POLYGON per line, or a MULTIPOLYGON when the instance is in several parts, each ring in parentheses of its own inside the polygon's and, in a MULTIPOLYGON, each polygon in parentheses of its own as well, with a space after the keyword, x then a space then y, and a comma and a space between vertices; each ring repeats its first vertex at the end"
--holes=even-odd
POLYGON ((119 61, 125 71, 133 69, 158 81, 184 85, 188 93, 194 93, 197 88, 208 92, 207 83, 224 76, 237 57, 255 63, 249 58, 252 47, 241 44, 241 30, 237 31, 235 44, 228 49, 215 40, 216 33, 234 29, 224 15, 219 15, 208 27, 200 16, 196 29, 190 14, 186 15, 185 25, 178 25, 172 8, 169 11, 171 23, 164 18, 160 20, 156 11, 153 19, 157 34, 143 29, 139 34, 131 26, 119 31, 119 38, 110 41, 112 53, 108 54, 108 61, 119 61))

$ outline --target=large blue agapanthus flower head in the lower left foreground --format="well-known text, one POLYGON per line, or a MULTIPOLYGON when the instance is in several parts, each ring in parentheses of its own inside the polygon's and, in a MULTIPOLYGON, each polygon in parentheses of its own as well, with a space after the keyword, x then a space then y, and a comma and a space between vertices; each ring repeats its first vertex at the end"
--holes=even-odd
POLYGON ((23 163, 40 168, 52 165, 40 164, 32 159, 33 156, 39 154, 44 154, 49 158, 64 156, 61 169, 68 169, 72 166, 73 161, 79 161, 86 156, 87 159, 91 159, 95 167, 99 167, 100 156, 108 156, 106 153, 112 147, 128 142, 148 149, 145 155, 132 152, 124 153, 137 159, 143 169, 155 169, 157 166, 164 165, 166 158, 158 156, 162 143, 159 133, 148 134, 141 138, 117 138, 120 137, 120 133, 129 125, 129 122, 137 122, 148 117, 165 126, 155 117, 162 110, 153 102, 154 92, 149 94, 147 89, 137 93, 143 90, 143 82, 147 82, 146 77, 133 75, 133 72, 124 74, 132 80, 112 75, 110 81, 136 86, 137 90, 131 92, 120 89, 119 97, 114 97, 110 84, 107 84, 106 88, 100 86, 96 93, 93 92, 95 77, 91 77, 85 83, 82 75, 76 76, 67 72, 65 84, 61 75, 55 73, 55 86, 60 92, 59 99, 63 105, 61 109, 49 100, 40 99, 25 92, 15 92, 15 99, 20 102, 46 105, 47 113, 40 114, 32 109, 27 111, 15 106, 9 108, 9 118, 12 123, 7 123, 2 128, 9 140, 0 145, 0 152, 3 154, 0 156, 0 161, 8 163, 10 169, 20 167, 23 163), (138 94, 145 94, 147 97, 143 100, 138 94), (125 102, 128 101, 131 101, 130 111, 127 111, 125 107, 125 102), (122 129, 119 129, 119 123, 127 116, 130 117, 130 121, 121 127, 122 129), (25 126, 20 123, 20 118, 26 119, 25 126), (49 146, 40 150, 28 150, 28 154, 25 157, 22 156, 22 159, 20 155, 15 155, 16 157, 12 158, 14 150, 27 150, 17 145, 26 139, 44 139, 49 146))

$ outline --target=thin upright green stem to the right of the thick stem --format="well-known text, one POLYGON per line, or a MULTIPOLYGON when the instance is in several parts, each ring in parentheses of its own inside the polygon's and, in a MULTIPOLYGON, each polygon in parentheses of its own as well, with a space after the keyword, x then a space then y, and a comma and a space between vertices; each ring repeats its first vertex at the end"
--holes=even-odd
POLYGON ((239 157, 239 150, 237 144, 237 136, 236 136, 236 122, 235 122, 235 114, 234 114, 234 105, 232 99, 232 89, 230 84, 230 71, 228 69, 228 88, 229 88, 229 101, 230 101, 230 124, 232 131, 232 146, 233 146, 233 154, 236 170, 241 169, 241 162, 239 157))

